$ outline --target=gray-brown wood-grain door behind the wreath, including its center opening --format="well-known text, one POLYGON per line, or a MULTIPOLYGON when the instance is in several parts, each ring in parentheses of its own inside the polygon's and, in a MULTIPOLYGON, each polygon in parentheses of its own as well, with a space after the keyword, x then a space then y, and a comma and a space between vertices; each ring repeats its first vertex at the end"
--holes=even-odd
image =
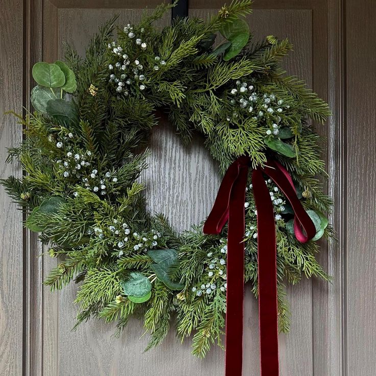
MULTIPOLYGON (((62 40, 81 53, 98 25, 114 13, 120 23, 136 22, 143 8, 159 0, 2 0, 0 2, 0 172, 21 176, 5 165, 6 147, 21 142, 21 127, 7 109, 29 108, 34 62, 62 56, 62 40)), ((191 0, 190 15, 215 12, 222 0, 191 0)), ((289 37, 295 49, 285 61, 290 73, 308 82, 333 109, 320 133, 327 138, 324 158, 333 196, 331 216, 338 243, 322 243, 320 261, 333 283, 303 280, 289 288, 291 333, 281 335, 283 376, 369 376, 376 369, 376 238, 373 200, 376 175, 374 119, 376 5, 367 0, 257 0, 248 17, 255 38, 289 37), (373 34, 373 35, 372 35, 373 34), (363 56, 364 55, 364 56, 363 56), (351 172, 351 173, 349 173, 351 172)), ((163 17, 159 25, 171 22, 163 17)), ((164 212, 176 229, 188 228, 209 213, 219 186, 216 166, 195 139, 183 148, 167 124, 151 140, 147 182, 150 209, 164 212), (186 168, 179 169, 184 163, 186 168), (148 184, 148 181, 155 181, 148 184), (208 189, 209 187, 209 189, 208 189), (186 210, 186 207, 189 209, 186 210)), ((1 376, 193 376, 223 374, 224 353, 213 349, 205 360, 190 354, 171 333, 157 349, 142 351, 142 323, 129 324, 120 339, 100 321, 71 332, 77 287, 50 294, 41 281, 56 261, 38 255, 37 239, 22 229, 0 187, 0 375, 1 376)), ((244 375, 259 374, 257 302, 245 299, 244 375)))

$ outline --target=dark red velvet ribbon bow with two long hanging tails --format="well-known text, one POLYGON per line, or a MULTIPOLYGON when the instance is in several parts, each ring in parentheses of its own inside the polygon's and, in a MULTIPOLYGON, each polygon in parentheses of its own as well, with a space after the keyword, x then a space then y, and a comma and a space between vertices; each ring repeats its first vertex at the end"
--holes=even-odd
MULTIPOLYGON (((228 221, 227 296, 226 296, 226 376, 242 375, 243 295, 244 295, 244 227, 245 189, 250 158, 242 156, 228 168, 218 191, 204 233, 218 234, 228 221)), ((316 228, 296 196, 287 170, 268 160, 264 168, 252 172, 253 195, 257 210, 257 254, 259 265, 259 324, 261 375, 278 376, 278 320, 276 240, 273 204, 264 174, 274 180, 285 194, 295 213, 294 231, 300 242, 307 242, 316 228)))

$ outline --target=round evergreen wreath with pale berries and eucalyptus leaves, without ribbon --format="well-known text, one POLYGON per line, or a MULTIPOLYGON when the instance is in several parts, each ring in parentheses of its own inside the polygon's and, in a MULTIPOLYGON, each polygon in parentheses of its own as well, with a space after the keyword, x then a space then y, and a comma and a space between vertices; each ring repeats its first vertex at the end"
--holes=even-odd
MULTIPOLYGON (((251 0, 234 1, 207 21, 177 19, 161 31, 153 21, 174 5, 162 4, 137 26, 117 29, 111 19, 93 37, 85 58, 67 47, 65 62, 36 63, 25 140, 9 149, 26 174, 2 183, 25 210, 25 225, 40 232, 58 267, 44 281, 51 291, 80 284, 77 324, 90 317, 117 322, 143 316, 148 348, 166 337, 175 317, 178 335, 193 336, 193 354, 221 345, 226 307, 226 238, 205 235, 202 224, 176 233, 162 215, 146 210, 140 172, 147 168, 151 129, 168 116, 185 144, 195 132, 219 162, 222 174, 241 155, 253 167, 268 156, 291 174, 313 220, 313 241, 293 234, 292 208, 267 180, 277 236, 278 318, 289 330, 284 281, 328 279, 317 263, 315 242, 330 237, 323 213, 331 200, 320 137, 312 121, 330 111, 280 60, 287 39, 253 43, 244 16, 251 0), (217 33, 224 40, 216 48, 217 33)), ((246 193, 245 281, 257 297, 257 228, 252 185, 246 193)))

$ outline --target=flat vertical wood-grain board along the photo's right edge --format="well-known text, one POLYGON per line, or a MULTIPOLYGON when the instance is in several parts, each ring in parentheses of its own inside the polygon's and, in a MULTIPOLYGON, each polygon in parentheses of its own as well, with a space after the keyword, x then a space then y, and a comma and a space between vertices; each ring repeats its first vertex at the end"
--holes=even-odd
POLYGON ((376 369, 376 61, 374 2, 346 1, 347 372, 376 369))

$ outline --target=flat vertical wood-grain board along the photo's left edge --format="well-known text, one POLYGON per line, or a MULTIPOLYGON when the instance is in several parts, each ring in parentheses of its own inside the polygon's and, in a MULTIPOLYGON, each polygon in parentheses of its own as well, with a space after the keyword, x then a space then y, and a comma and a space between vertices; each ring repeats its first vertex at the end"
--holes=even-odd
MULTIPOLYGON (((22 176, 18 163, 6 164, 7 148, 20 144, 21 126, 4 111, 22 112, 22 3, 0 3, 0 178, 22 176), (21 9, 19 14, 13 10, 21 9)), ((0 375, 22 372, 22 214, 0 186, 0 375)))

